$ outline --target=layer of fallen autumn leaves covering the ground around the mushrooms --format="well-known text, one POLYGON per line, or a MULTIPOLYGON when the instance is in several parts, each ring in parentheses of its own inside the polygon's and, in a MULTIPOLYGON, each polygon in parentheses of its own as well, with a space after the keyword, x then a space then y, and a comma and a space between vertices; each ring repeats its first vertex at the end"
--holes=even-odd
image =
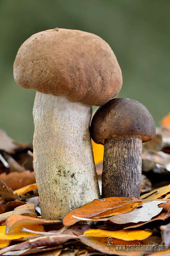
MULTIPOLYGON (((4 154, 5 150, 13 157, 16 153, 18 154, 18 149, 19 152, 22 152, 22 150, 31 149, 32 147, 24 143, 14 142, 3 132, 1 134, 8 143, 6 147, 2 147, 2 156, 6 156, 4 154)), ((167 132, 163 130, 161 136, 158 136, 158 147, 157 142, 151 144, 154 150, 158 148, 157 151, 168 152, 169 142, 160 143, 165 134, 167 132)), ((5 140, 2 140, 0 136, 2 145, 5 145, 5 140)), ((98 152, 97 149, 96 152, 98 152)), ((30 154, 30 157, 32 157, 32 154, 30 154)), ((5 160, 8 160, 7 157, 5 160)), ((152 163, 152 159, 150 160, 152 163)), ((99 157, 96 162, 99 162, 99 157)), ((1 166, 0 168, 4 171, 4 167, 1 166)), ((143 194, 140 199, 144 200, 124 197, 95 199, 91 203, 69 212, 62 223, 59 220, 41 219, 40 214, 35 210, 38 204, 38 193, 36 183, 33 184, 34 175, 30 174, 32 172, 29 170, 19 172, 21 169, 19 165, 16 166, 18 166, 18 172, 8 173, 6 168, 6 172, 0 174, 0 178, 2 177, 0 182, 0 255, 89 256, 112 254, 142 256, 148 254, 148 251, 130 251, 130 248, 154 244, 166 244, 167 251, 158 254, 152 250, 152 254, 149 255, 169 255, 167 254, 170 253, 168 249, 170 247, 169 184, 164 183, 164 186, 156 187, 153 182, 152 185, 155 186, 155 189, 143 194), (20 180, 22 181, 25 174, 28 179, 30 175, 33 178, 30 179, 30 183, 23 183, 24 186, 21 185, 20 180), (21 176, 19 177, 19 175, 21 176), (12 177, 16 184, 18 183, 17 187, 12 187, 12 177), (157 199, 160 201, 157 201, 157 199), (82 217, 88 220, 87 223, 92 220, 92 226, 78 222, 82 217), (105 222, 101 223, 102 219, 105 222), (100 224, 103 225, 100 226, 100 224), (25 231, 23 231, 23 228, 25 228, 25 231), (108 238, 112 239, 110 241, 113 242, 113 251, 109 251, 108 238), (129 250, 117 251, 116 246, 125 246, 125 249, 129 248, 129 250)), ((164 174, 161 173, 161 175, 164 174)), ((151 177, 149 178, 151 179, 151 177)), ((168 179, 166 180, 168 181, 168 179)), ((143 186, 145 187, 145 185, 143 186)), ((143 191, 145 191, 145 188, 143 191)))

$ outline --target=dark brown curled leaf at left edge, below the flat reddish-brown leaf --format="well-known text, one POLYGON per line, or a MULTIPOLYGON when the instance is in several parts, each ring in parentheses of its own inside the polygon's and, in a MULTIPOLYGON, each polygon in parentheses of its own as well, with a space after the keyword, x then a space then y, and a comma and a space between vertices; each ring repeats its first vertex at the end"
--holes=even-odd
POLYGON ((16 192, 13 192, 11 188, 8 188, 6 184, 0 180, 0 196, 5 201, 13 201, 14 199, 20 199, 16 192))

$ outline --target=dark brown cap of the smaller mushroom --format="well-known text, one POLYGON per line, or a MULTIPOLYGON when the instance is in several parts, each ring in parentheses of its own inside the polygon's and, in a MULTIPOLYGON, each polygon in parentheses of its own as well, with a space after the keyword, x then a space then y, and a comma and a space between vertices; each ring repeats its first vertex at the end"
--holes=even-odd
POLYGON ((96 143, 115 136, 141 136, 142 142, 155 137, 155 123, 148 109, 137 100, 116 98, 97 109, 90 127, 96 143))

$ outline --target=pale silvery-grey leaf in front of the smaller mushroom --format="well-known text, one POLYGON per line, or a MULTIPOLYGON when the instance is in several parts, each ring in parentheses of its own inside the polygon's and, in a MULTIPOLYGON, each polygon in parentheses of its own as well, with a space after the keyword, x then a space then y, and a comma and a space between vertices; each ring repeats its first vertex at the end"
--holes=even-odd
POLYGON ((124 224, 124 223, 137 223, 139 221, 149 221, 152 217, 158 215, 162 208, 158 207, 158 204, 162 203, 161 201, 151 201, 143 204, 141 208, 136 208, 133 212, 128 212, 121 215, 116 215, 109 220, 114 223, 124 224))

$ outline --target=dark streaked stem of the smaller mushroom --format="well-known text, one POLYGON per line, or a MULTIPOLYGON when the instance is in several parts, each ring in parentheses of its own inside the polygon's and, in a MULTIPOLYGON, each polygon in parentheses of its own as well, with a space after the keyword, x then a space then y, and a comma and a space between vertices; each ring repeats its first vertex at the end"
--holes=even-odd
POLYGON ((142 172, 141 136, 105 139, 102 198, 140 197, 142 172))

